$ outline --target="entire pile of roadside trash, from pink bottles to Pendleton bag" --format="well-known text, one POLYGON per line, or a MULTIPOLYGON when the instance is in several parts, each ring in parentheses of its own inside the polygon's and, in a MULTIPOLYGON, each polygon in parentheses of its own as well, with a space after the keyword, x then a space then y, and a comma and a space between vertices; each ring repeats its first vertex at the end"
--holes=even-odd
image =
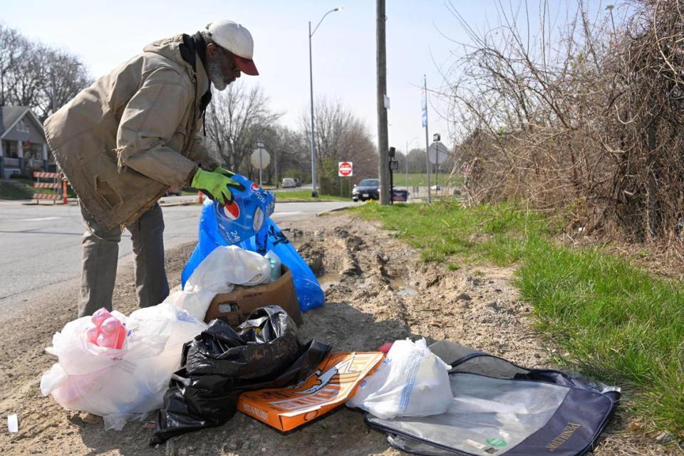
POLYGON ((302 313, 324 294, 269 219, 275 197, 242 176, 234 202, 207 200, 182 291, 125 316, 67 323, 41 391, 120 430, 157 412, 150 445, 218 427, 237 411, 288 432, 345 404, 389 444, 420 455, 581 455, 618 388, 425 339, 333 353, 301 341, 302 313))

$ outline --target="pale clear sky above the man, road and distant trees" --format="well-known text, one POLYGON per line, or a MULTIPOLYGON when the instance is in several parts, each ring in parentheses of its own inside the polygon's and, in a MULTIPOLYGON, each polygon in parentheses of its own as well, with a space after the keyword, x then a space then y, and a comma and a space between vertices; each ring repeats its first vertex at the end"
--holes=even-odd
MULTIPOLYGON (((456 41, 465 40, 465 33, 445 1, 386 3, 390 145, 403 150, 409 141, 410 147, 424 147, 425 130, 420 124, 423 75, 427 75, 428 88, 439 88, 442 76, 437 66, 454 58, 456 48, 442 33, 456 41)), ((452 4, 476 28, 497 21, 495 0, 452 0, 452 4)), ((530 11, 536 12, 537 1, 529 4, 530 11)), ((95 78, 158 38, 194 33, 215 19, 239 21, 254 36, 254 61, 261 73, 242 77, 250 84, 258 83, 272 108, 284 113, 283 123, 296 127, 309 106, 307 23, 315 26, 336 6, 344 10, 329 14, 313 39, 314 95, 341 100, 366 122, 375 138, 373 0, 24 0, 4 4, 0 20, 30 38, 76 54, 95 78)), ((447 123, 434 108, 429 111, 430 139, 439 132, 450 144, 447 123)))

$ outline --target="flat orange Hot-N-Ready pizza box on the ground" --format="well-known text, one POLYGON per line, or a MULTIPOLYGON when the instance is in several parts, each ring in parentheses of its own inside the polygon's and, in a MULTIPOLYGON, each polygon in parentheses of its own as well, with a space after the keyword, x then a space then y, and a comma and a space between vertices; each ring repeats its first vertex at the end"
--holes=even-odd
POLYGON ((299 385, 242 393, 237 410, 283 432, 345 403, 383 360, 379 351, 331 353, 299 385))

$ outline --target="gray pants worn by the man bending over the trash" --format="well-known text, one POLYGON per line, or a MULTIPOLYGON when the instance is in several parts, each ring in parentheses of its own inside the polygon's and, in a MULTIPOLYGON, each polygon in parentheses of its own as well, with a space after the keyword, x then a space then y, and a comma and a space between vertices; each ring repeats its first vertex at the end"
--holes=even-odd
MULTIPOLYGON (((83 233, 83 274, 78 316, 92 315, 104 307, 112 310, 121 229, 104 229, 81 204, 86 232, 83 233)), ((133 241, 135 291, 140 307, 155 306, 169 295, 164 270, 164 217, 155 204, 128 225, 133 241)))

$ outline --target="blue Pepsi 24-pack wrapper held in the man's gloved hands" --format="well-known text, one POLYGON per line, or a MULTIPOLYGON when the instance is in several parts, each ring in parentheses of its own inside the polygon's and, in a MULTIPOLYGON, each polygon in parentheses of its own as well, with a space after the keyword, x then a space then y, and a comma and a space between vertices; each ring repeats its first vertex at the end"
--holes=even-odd
POLYGON ((219 233, 228 245, 257 234, 275 207, 273 193, 244 176, 234 175, 232 179, 244 185, 245 190, 231 188, 233 201, 229 204, 213 202, 219 233))

